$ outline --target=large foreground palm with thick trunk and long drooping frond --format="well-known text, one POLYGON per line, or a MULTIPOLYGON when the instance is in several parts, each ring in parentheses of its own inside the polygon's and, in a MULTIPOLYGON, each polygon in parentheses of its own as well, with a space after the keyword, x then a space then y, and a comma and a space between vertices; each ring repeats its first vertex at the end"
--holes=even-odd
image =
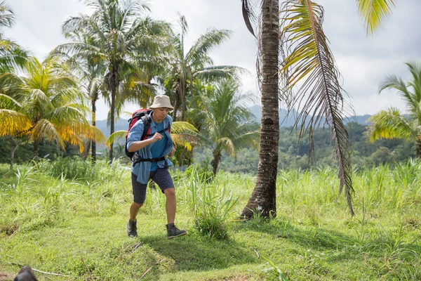
MULTIPOLYGON (((262 0, 258 27, 260 54, 258 70, 262 77, 262 122, 260 127, 260 156, 258 178, 253 194, 242 216, 250 218, 256 212, 262 216, 276 215, 276 165, 278 159, 278 98, 288 107, 302 105, 296 125, 300 136, 326 122, 332 128, 335 154, 338 159, 340 192, 345 187, 349 211, 352 209, 352 168, 349 161, 348 134, 342 123, 343 90, 338 79, 328 40, 322 29, 323 8, 311 0, 262 0), (281 11, 279 30, 278 14, 281 11), (281 48, 279 48, 279 39, 281 48), (279 49, 281 50, 281 86, 278 80, 279 49), (269 81, 270 80, 270 81, 269 81), (269 84, 273 82, 273 84, 269 84), (300 82, 300 83, 299 83, 300 82), (300 84, 295 95, 293 86, 300 84), (309 119, 309 121, 307 121, 309 119), (308 125, 306 125, 308 124, 308 125)), ((373 34, 391 12, 394 0, 357 0, 359 14, 368 34, 373 34)), ((242 0, 242 12, 248 30, 253 30, 250 0, 242 0)))

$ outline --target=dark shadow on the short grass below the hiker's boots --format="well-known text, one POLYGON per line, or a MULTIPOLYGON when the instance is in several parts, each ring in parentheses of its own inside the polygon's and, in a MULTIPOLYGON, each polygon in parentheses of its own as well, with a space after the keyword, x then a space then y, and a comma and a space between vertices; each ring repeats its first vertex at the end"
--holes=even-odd
POLYGON ((162 238, 148 236, 142 237, 142 241, 159 254, 173 259, 180 271, 223 269, 258 261, 253 249, 232 240, 220 241, 196 235, 186 235, 173 240, 162 238))

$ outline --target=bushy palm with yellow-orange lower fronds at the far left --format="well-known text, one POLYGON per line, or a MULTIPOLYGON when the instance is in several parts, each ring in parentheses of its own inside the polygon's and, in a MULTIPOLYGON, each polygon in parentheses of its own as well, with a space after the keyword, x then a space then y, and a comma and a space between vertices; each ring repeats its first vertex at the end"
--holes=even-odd
POLYGON ((24 76, 7 73, 8 81, 19 81, 19 96, 1 95, 0 136, 27 136, 34 143, 34 157, 38 158, 39 142, 46 138, 81 145, 83 138, 104 140, 102 132, 89 126, 88 110, 81 103, 86 97, 76 88, 76 82, 63 74, 56 60, 48 58, 39 63, 27 61, 24 76))

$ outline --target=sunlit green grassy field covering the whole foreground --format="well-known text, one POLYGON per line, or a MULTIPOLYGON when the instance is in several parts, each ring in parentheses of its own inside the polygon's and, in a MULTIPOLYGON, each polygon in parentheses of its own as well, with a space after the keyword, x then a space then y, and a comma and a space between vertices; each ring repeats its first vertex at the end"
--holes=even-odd
MULTIPOLYGON (((255 178, 172 171, 176 224, 149 189, 128 238, 130 170, 60 159, 0 166, 0 272, 39 280, 421 280, 421 163, 354 174, 351 217, 334 169, 279 171, 277 216, 236 221, 255 178), (64 173, 64 174, 62 174, 64 173)), ((11 275, 9 275, 11 276, 11 275)))

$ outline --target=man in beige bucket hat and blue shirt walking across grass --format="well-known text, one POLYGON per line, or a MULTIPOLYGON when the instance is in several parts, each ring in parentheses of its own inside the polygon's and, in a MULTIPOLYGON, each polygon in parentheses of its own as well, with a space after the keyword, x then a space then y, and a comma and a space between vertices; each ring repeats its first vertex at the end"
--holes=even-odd
POLYGON ((166 196, 167 214, 167 238, 175 238, 186 235, 185 230, 179 230, 174 226, 175 219, 175 189, 173 179, 168 172, 168 166, 173 163, 164 156, 172 156, 175 152, 171 134, 167 130, 173 123, 168 112, 174 108, 171 106, 170 98, 165 95, 155 96, 154 103, 149 107, 152 109, 150 120, 150 133, 142 141, 142 133, 145 128, 142 119, 136 122, 127 138, 127 149, 135 152, 132 159, 132 187, 133 204, 130 207, 130 219, 127 222, 127 235, 137 237, 136 216, 143 202, 145 202, 147 182, 152 179, 163 194, 166 196))

